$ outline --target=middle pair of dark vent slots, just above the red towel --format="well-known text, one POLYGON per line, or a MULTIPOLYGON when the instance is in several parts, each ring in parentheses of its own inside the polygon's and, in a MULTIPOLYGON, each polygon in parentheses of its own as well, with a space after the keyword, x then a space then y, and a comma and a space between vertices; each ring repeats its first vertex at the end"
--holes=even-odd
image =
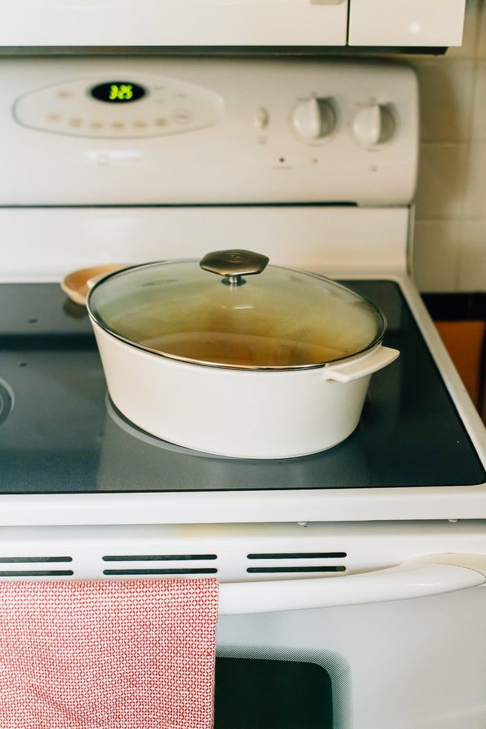
POLYGON ((200 564, 217 559, 216 554, 124 554, 106 555, 103 562, 137 563, 137 566, 109 567, 103 574, 216 574, 217 568, 200 564), (146 565, 140 563, 149 563, 146 565), (159 564, 154 565, 157 562, 159 564), (181 564, 173 564, 181 562, 181 564), (172 565, 172 566, 169 566, 172 565))

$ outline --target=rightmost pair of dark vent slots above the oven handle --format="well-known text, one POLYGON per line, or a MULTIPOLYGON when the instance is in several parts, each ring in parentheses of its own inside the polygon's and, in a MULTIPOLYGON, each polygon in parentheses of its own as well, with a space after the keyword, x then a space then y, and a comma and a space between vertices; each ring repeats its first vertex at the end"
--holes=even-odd
POLYGON ((346 552, 257 552, 246 555, 246 558, 262 562, 270 561, 271 564, 247 567, 246 572, 251 574, 345 572, 346 567, 340 561, 347 556, 346 552), (282 564, 284 561, 291 564, 282 564))

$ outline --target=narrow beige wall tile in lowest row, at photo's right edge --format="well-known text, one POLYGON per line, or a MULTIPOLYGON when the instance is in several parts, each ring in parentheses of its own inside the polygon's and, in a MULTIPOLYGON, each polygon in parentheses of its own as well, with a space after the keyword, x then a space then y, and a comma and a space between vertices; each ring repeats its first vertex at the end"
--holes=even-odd
POLYGON ((458 289, 486 292, 486 219, 465 222, 462 226, 458 289))

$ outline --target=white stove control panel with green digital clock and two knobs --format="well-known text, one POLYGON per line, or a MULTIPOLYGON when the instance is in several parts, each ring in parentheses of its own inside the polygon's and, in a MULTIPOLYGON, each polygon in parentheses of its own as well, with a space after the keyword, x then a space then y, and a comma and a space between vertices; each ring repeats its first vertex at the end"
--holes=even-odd
POLYGON ((408 205, 404 63, 55 56, 0 65, 0 205, 408 205))

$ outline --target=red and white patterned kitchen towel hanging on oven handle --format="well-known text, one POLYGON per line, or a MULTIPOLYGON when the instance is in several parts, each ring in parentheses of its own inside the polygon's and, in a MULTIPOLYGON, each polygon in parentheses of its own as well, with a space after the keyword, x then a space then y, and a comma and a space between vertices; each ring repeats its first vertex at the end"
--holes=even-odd
POLYGON ((0 582, 1 729, 210 729, 218 582, 0 582))

